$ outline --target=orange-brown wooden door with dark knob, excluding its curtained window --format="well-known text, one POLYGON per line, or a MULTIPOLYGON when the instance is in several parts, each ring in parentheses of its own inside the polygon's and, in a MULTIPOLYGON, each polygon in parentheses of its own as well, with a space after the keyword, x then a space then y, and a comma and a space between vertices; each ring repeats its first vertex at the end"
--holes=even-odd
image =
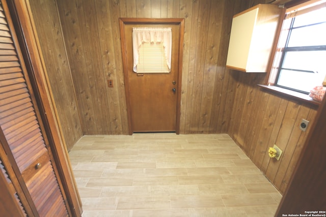
POLYGON ((126 84, 129 132, 177 132, 179 131, 179 101, 181 75, 179 22, 126 22, 123 25, 122 45, 126 84), (172 57, 170 73, 133 72, 132 27, 171 27, 172 57))

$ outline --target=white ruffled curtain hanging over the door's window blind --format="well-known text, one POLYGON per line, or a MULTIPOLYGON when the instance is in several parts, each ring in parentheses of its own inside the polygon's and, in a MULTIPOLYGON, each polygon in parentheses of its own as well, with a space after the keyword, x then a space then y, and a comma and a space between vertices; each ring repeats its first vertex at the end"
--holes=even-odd
POLYGON ((139 47, 143 42, 164 44, 167 65, 171 70, 172 29, 171 28, 132 28, 133 71, 137 72, 139 47))

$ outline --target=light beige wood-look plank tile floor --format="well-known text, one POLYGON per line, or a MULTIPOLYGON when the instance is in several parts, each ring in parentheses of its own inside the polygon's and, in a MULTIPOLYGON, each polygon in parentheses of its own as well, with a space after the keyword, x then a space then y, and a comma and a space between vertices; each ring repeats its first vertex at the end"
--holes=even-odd
POLYGON ((281 194, 227 134, 84 136, 69 152, 94 216, 274 216, 281 194))

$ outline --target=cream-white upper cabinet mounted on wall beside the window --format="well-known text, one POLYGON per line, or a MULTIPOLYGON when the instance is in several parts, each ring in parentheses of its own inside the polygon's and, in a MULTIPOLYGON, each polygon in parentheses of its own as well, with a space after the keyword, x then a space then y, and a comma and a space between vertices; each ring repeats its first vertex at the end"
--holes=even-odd
POLYGON ((267 72, 284 10, 259 4, 233 16, 226 66, 243 72, 267 72))

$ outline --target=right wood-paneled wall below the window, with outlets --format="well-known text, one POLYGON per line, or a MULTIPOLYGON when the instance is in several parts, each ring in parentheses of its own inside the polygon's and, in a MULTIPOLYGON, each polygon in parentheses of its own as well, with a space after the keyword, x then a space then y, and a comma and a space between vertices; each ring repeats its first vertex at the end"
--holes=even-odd
POLYGON ((230 72, 237 85, 230 120, 229 135, 284 193, 309 132, 299 129, 302 119, 311 123, 316 106, 281 98, 257 87, 264 74, 230 72), (276 144, 283 150, 279 161, 270 159, 269 147, 276 144))

